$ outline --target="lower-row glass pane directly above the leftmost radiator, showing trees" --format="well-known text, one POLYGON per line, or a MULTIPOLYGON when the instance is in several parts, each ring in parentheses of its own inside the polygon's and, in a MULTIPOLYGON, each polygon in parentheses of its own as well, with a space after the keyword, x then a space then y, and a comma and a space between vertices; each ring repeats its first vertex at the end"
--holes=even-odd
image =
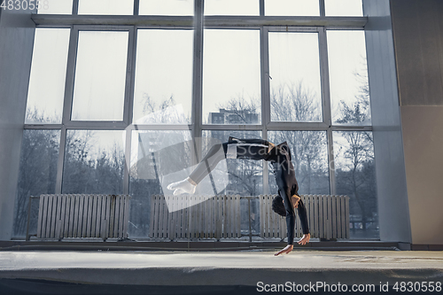
POLYGON ((121 194, 124 131, 67 130, 62 192, 121 194))

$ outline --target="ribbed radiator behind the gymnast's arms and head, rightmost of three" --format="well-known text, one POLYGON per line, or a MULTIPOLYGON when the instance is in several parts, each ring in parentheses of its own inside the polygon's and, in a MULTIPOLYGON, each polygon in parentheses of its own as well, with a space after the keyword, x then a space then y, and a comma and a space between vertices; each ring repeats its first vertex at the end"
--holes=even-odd
MULTIPOLYGON (((260 195, 260 237, 286 237, 286 218, 272 211, 276 195, 260 195)), ((349 238, 349 197, 300 195, 307 208, 311 237, 349 238)), ((303 236, 296 212, 295 237, 303 236)))

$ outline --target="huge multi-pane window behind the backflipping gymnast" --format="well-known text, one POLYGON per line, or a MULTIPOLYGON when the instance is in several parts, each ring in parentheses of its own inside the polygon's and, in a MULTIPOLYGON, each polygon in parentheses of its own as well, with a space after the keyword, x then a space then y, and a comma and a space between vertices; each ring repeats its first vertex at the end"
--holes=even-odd
MULTIPOLYGON (((37 17, 16 236, 29 196, 123 193, 130 237, 147 238, 152 196, 236 136, 286 141, 299 193, 349 196, 351 237, 378 237, 361 0, 60 0, 38 14, 75 17, 37 17)), ((276 194, 272 168, 217 169, 200 192, 242 196, 247 232, 245 197, 276 194)))

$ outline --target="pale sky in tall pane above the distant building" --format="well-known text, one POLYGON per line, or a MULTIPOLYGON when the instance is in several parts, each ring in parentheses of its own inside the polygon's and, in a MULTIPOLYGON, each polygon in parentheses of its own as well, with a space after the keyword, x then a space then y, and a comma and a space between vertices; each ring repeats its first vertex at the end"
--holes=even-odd
POLYGON ((203 121, 210 112, 219 112, 217 105, 238 97, 260 102, 260 31, 206 29, 203 121))

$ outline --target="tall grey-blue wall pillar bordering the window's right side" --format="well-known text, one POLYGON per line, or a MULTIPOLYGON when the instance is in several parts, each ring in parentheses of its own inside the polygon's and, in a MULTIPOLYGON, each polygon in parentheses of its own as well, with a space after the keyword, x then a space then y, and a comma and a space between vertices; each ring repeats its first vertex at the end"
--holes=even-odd
MULTIPOLYGON (((380 240, 411 243, 389 0, 363 0, 380 240)), ((376 185, 376 184, 374 184, 376 185)))

